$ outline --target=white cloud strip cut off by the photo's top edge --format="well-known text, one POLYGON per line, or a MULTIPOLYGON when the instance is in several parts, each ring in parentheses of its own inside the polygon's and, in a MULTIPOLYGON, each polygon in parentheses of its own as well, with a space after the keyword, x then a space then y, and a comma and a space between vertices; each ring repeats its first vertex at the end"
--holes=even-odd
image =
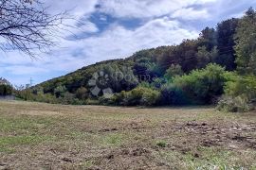
POLYGON ((158 17, 192 5, 205 5, 217 0, 100 0, 101 11, 117 17, 158 17))

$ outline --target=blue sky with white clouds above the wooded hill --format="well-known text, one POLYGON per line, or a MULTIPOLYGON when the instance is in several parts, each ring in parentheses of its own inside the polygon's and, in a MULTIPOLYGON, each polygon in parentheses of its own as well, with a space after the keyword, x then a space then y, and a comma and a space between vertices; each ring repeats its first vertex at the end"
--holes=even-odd
MULTIPOLYGON (((131 56, 138 50, 196 39, 206 26, 241 17, 256 0, 42 0, 51 14, 73 20, 58 31, 58 45, 37 59, 0 51, 0 77, 33 85, 83 66, 131 56)), ((0 39, 1 41, 1 39, 0 39)))

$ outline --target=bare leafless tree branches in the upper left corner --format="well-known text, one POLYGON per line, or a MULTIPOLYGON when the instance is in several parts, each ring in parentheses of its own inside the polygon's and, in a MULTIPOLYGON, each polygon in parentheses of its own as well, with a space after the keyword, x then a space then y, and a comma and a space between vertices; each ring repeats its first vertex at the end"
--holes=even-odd
POLYGON ((47 52, 56 45, 56 31, 66 14, 50 15, 38 0, 0 0, 0 37, 5 40, 0 49, 19 50, 36 58, 36 50, 47 52))

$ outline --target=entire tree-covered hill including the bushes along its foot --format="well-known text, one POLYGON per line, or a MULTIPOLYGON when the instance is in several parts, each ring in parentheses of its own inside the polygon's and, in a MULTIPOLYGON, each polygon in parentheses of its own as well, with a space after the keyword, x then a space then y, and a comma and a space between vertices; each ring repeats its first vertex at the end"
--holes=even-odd
POLYGON ((256 11, 206 27, 196 40, 102 61, 16 91, 47 103, 114 106, 218 104, 253 110, 256 102, 256 11))

